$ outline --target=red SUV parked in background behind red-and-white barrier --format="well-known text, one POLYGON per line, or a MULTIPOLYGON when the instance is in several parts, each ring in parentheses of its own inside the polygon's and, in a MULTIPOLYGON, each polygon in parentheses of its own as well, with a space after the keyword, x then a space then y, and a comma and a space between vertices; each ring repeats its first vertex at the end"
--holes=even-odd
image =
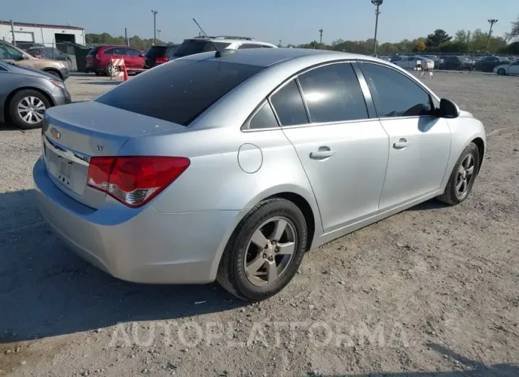
POLYGON ((144 53, 127 46, 97 46, 91 48, 87 55, 85 72, 96 75, 113 75, 112 59, 124 59, 128 73, 144 70, 144 53))

